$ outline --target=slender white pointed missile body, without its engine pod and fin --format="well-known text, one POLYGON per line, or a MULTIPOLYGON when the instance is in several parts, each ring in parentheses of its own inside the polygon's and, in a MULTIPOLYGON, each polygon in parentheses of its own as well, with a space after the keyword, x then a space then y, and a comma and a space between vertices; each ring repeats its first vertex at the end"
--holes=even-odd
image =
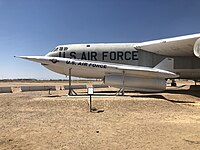
POLYGON ((28 59, 34 62, 41 63, 42 65, 54 65, 66 68, 87 69, 88 71, 96 71, 106 74, 121 74, 124 72, 126 75, 152 77, 152 78, 177 78, 173 72, 166 71, 158 68, 132 66, 124 64, 115 64, 108 62, 98 62, 89 60, 77 60, 70 58, 60 57, 47 57, 47 56, 20 56, 19 58, 28 59))

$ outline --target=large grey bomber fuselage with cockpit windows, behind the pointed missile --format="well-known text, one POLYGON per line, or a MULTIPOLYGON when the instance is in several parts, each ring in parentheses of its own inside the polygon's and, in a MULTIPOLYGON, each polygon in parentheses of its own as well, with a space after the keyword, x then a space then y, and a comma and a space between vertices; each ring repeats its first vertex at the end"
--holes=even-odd
MULTIPOLYGON (((154 67, 168 56, 147 52, 134 47, 134 43, 123 44, 71 44, 57 46, 48 57, 110 62, 134 66, 154 67)), ((200 59, 193 56, 170 56, 174 59, 174 70, 180 78, 200 79, 200 59)))

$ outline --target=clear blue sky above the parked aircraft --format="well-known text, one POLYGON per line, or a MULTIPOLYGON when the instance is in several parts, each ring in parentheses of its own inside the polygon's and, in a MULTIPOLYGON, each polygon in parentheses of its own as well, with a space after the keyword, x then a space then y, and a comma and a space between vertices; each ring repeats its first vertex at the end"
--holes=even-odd
POLYGON ((0 79, 59 79, 14 58, 59 44, 141 42, 200 32, 199 0, 0 0, 0 79))

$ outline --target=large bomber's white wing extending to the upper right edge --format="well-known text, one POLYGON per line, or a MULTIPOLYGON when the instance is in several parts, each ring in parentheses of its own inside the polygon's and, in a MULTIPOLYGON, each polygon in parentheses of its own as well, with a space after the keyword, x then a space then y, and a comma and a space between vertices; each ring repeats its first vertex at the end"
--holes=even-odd
POLYGON ((199 38, 200 33, 142 42, 135 44, 134 47, 138 50, 144 50, 165 56, 194 56, 194 44, 199 38))

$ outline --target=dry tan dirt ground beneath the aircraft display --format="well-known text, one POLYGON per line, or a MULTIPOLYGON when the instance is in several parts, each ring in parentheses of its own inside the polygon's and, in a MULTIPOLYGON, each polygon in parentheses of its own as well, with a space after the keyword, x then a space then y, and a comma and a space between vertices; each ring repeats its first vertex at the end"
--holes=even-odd
MULTIPOLYGON (((66 96, 67 91, 20 92, 21 85, 0 82, 13 93, 0 93, 0 149, 122 150, 200 149, 200 88, 178 82, 161 93, 98 89, 89 112, 89 97, 66 96)), ((45 83, 58 88, 65 83, 45 83)))

